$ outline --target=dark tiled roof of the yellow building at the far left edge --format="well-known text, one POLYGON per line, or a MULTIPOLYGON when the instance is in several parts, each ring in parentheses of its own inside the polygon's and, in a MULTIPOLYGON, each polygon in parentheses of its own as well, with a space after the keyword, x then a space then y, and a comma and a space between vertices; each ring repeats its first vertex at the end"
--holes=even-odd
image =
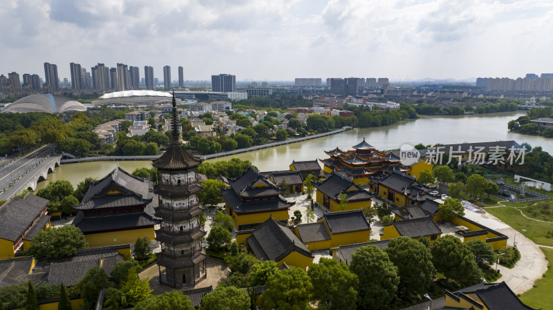
POLYGON ((48 200, 28 193, 0 206, 0 238, 16 242, 37 220, 48 200))

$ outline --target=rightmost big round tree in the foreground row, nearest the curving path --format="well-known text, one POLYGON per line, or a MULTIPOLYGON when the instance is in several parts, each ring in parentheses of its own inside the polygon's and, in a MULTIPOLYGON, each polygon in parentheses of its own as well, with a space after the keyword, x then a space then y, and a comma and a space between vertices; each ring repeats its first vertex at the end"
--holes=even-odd
POLYGON ((432 264, 447 279, 456 280, 461 285, 472 284, 481 275, 474 255, 467 244, 454 235, 444 235, 430 245, 432 264))

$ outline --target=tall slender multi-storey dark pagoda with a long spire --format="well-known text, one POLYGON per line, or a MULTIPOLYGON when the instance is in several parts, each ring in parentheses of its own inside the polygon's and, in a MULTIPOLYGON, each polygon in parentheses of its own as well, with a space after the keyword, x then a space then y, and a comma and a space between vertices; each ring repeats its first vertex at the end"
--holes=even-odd
POLYGON ((172 114, 171 145, 152 164, 158 168, 159 180, 153 191, 159 197, 156 216, 161 219, 156 240, 161 243, 160 283, 185 289, 207 278, 207 255, 202 248, 205 231, 198 218, 204 211, 197 196, 202 189, 196 171, 201 161, 180 142, 174 93, 172 114))

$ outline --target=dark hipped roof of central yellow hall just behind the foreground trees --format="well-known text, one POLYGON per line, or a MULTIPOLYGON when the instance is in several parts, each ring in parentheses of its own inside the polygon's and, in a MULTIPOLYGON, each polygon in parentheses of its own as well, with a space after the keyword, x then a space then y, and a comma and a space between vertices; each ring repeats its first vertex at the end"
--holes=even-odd
POLYGON ((297 251, 312 258, 311 251, 306 249, 301 240, 297 238, 287 226, 270 217, 259 225, 250 237, 247 244, 260 260, 274 260, 278 262, 286 255, 297 251))

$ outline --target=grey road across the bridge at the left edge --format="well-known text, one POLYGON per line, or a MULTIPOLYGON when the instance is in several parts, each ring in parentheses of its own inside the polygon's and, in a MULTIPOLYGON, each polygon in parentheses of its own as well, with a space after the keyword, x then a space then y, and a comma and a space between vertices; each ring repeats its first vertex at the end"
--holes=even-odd
POLYGON ((25 177, 28 175, 24 175, 24 177, 22 177, 21 180, 19 180, 15 184, 15 186, 10 186, 10 183, 12 183, 13 180, 17 180, 17 177, 19 177, 19 175, 23 175, 29 168, 34 166, 36 162, 40 162, 41 159, 52 154, 53 151, 54 146, 43 146, 41 148, 38 148, 36 151, 33 151, 32 153, 29 153, 24 157, 19 157, 10 164, 0 168, 0 191, 8 186, 6 190, 0 194, 0 200, 6 200, 8 199, 8 197, 11 197, 14 194, 12 192, 15 191, 15 189, 18 187, 17 183, 22 184, 25 177))

